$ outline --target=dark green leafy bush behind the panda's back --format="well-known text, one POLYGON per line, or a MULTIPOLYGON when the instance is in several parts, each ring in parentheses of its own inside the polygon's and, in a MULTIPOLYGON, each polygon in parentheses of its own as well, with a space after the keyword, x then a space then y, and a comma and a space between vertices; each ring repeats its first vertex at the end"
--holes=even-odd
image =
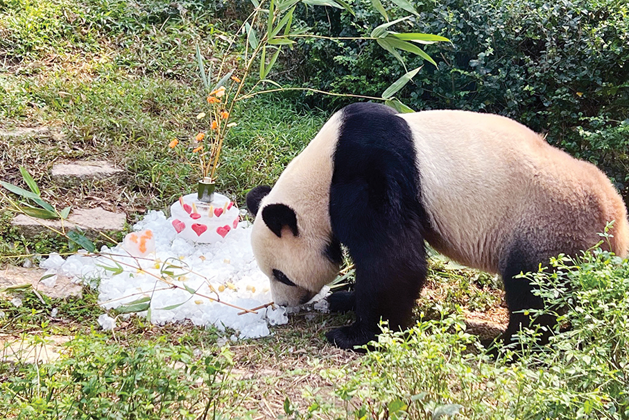
MULTIPOLYGON (((365 35, 381 19, 370 5, 370 0, 356 1, 356 17, 316 9, 300 17, 321 35, 365 35)), ((451 44, 425 46, 438 67, 425 63, 415 87, 408 85, 398 95, 405 103, 416 110, 454 108, 517 119, 603 168, 629 203, 628 3, 440 0, 414 5, 419 15, 409 19, 412 27, 401 22, 392 28, 442 35, 451 44)), ((368 43, 305 40, 291 58, 288 67, 300 67, 291 78, 333 92, 377 96, 401 73, 399 62, 368 43)), ((408 67, 420 64, 413 58, 408 67)), ((314 96, 308 101, 328 108, 347 103, 314 96)))

